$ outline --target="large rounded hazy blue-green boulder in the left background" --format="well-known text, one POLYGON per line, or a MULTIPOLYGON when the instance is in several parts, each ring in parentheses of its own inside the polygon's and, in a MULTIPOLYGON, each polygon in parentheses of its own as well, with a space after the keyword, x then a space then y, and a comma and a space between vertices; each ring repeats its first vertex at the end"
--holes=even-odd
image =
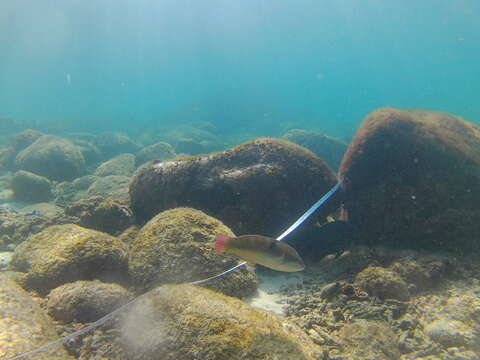
POLYGON ((21 151, 16 159, 20 170, 27 170, 50 180, 73 180, 84 171, 85 159, 70 141, 44 135, 21 151))

